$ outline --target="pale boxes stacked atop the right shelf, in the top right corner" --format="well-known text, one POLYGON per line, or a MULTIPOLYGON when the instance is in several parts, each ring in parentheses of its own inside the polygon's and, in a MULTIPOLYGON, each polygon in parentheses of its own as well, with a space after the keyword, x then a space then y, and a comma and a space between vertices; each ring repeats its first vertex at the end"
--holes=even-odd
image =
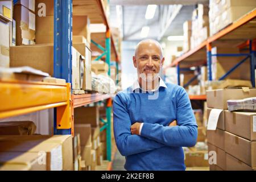
POLYGON ((256 1, 210 0, 209 7, 210 36, 212 36, 255 9, 256 1))

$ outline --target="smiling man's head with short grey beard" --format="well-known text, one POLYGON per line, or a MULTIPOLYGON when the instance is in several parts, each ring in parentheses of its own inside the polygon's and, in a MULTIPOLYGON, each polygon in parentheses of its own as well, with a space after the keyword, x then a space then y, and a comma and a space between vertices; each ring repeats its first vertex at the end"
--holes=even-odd
POLYGON ((137 68, 138 77, 158 76, 163 63, 163 49, 159 42, 146 39, 138 43, 133 56, 133 64, 137 68))

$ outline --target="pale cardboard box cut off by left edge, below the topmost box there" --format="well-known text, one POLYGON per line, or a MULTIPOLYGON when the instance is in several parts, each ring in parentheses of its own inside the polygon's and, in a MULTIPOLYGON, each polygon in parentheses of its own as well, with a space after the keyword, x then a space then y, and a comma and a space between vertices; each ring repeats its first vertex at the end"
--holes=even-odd
POLYGON ((9 68, 9 24, 0 21, 0 67, 9 68))

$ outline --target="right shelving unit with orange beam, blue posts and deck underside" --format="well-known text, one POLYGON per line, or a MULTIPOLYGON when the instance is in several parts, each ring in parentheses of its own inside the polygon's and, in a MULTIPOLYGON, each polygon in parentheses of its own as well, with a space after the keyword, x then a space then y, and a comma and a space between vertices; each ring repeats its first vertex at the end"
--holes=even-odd
MULTIPOLYGON (((212 81, 212 56, 246 56, 245 59, 241 60, 240 63, 234 65, 225 75, 223 75, 219 80, 223 80, 231 72, 233 72, 239 65, 250 58, 250 73, 251 73, 251 84, 255 86, 255 57, 256 57, 256 10, 249 12, 242 18, 238 19, 233 24, 224 28, 217 34, 210 36, 207 40, 201 43, 194 49, 184 53, 182 56, 178 57, 169 67, 177 68, 177 82, 180 84, 180 69, 195 67, 207 63, 208 68, 208 80, 212 81), (240 54, 217 54, 213 55, 211 52, 212 46, 216 44, 221 44, 223 42, 234 45, 241 41, 245 42, 242 47, 249 47, 249 53, 240 54)), ((240 46, 241 47, 241 46, 240 46)), ((168 68, 168 67, 167 67, 168 68)), ((192 78, 193 79, 193 78, 192 78)), ((191 81, 188 81, 191 82, 191 81)))

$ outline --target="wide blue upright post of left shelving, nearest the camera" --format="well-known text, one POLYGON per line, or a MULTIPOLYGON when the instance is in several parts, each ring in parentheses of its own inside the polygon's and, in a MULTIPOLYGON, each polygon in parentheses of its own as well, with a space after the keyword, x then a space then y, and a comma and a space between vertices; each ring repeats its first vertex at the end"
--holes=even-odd
MULTIPOLYGON (((72 0, 54 0, 54 77, 72 82, 72 0)), ((71 129, 56 128, 54 134, 71 134, 71 129)))

